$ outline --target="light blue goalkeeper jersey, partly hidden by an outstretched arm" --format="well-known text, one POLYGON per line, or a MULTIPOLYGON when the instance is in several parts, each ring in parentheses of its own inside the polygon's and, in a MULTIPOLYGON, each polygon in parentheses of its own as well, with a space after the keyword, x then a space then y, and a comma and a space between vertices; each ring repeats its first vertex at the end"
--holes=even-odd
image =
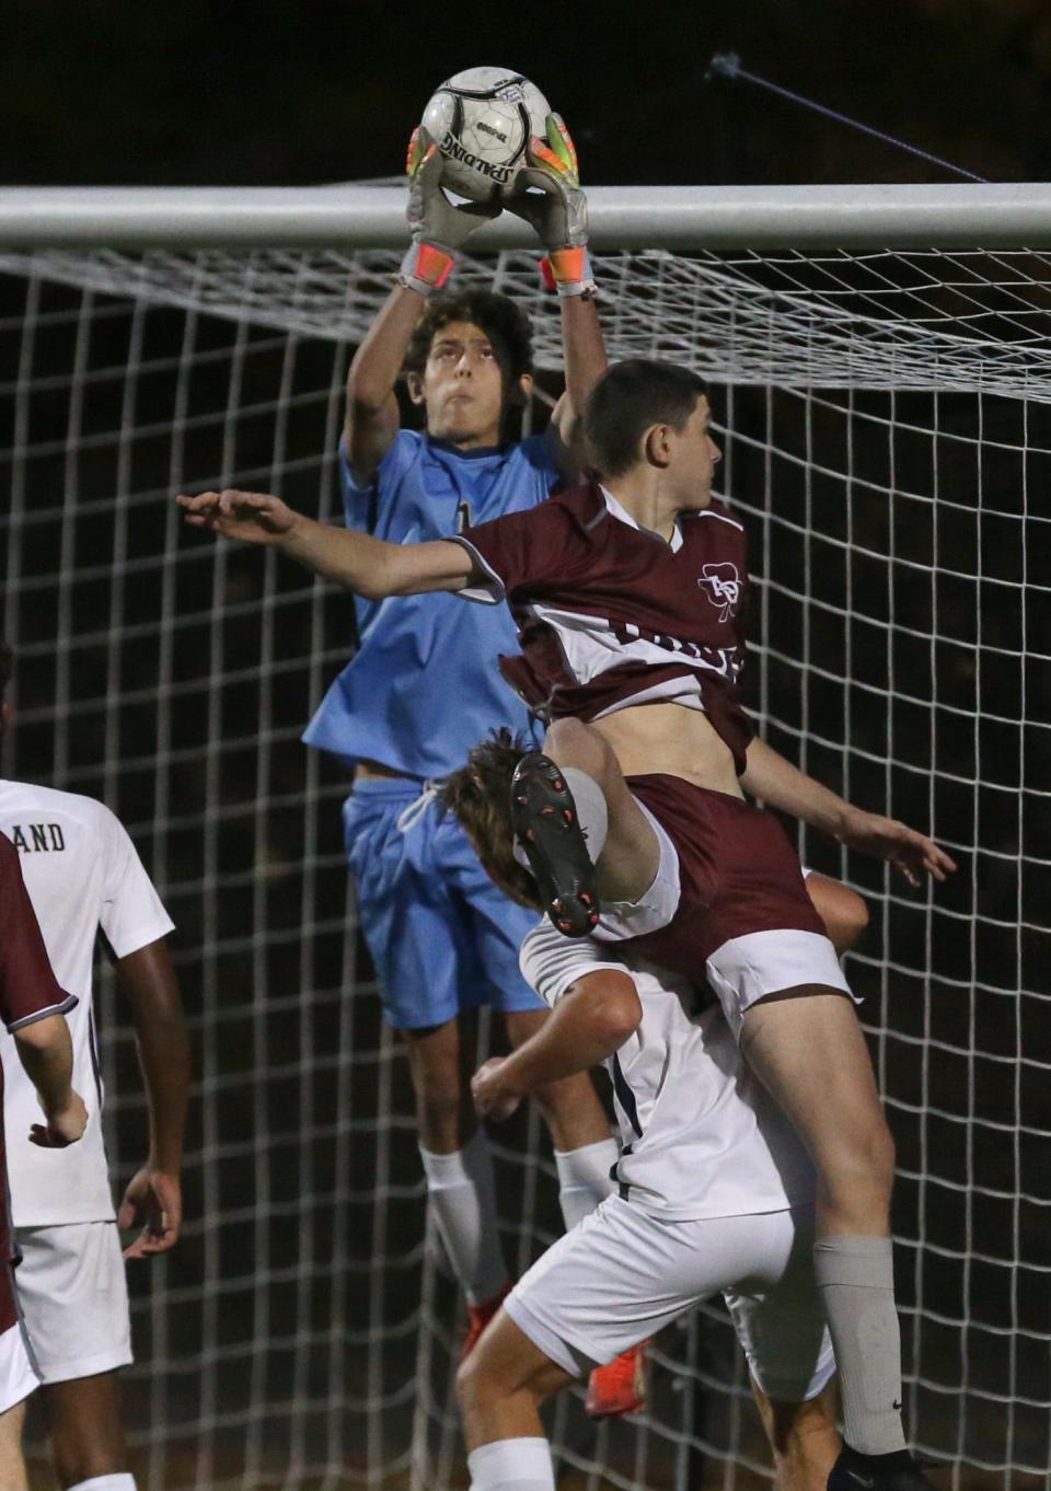
MULTIPOLYGON (((544 435, 461 452, 400 431, 371 483, 355 486, 340 449, 349 528, 395 544, 450 538, 543 502, 559 474, 544 435)), ((496 656, 519 650, 504 605, 455 595, 355 598, 361 646, 325 695, 303 740, 353 763, 382 762, 411 777, 444 777, 490 729, 525 729, 528 713, 496 656)))

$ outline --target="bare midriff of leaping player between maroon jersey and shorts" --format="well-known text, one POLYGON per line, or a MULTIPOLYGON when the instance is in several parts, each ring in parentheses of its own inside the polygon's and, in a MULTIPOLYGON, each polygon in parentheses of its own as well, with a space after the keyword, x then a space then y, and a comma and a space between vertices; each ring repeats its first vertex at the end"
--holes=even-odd
POLYGON ((637 704, 593 720, 625 777, 665 772, 742 798, 733 756, 707 716, 683 704, 637 704))

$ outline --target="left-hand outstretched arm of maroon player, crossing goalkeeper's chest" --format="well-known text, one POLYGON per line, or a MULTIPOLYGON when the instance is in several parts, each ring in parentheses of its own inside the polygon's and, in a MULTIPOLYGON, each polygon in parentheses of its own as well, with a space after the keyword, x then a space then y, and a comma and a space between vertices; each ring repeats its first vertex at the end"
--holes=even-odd
POLYGON ((192 528, 280 549, 307 570, 367 601, 425 590, 462 590, 474 562, 461 544, 389 544, 371 534, 318 523, 267 492, 198 492, 177 497, 192 528))

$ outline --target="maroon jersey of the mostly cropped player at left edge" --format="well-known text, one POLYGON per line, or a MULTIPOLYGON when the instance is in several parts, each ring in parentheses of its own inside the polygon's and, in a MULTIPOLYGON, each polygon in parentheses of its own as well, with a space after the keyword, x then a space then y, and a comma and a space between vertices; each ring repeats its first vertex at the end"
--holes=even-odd
MULTIPOLYGON (((7 1030, 64 1014, 76 999, 60 989, 48 962, 40 927, 30 902, 18 850, 0 833, 0 1020, 7 1030)), ((0 1069, 0 1112, 3 1071, 0 1069)), ((7 1263, 12 1257, 7 1205, 7 1166, 0 1124, 0 1333, 18 1321, 7 1263)))

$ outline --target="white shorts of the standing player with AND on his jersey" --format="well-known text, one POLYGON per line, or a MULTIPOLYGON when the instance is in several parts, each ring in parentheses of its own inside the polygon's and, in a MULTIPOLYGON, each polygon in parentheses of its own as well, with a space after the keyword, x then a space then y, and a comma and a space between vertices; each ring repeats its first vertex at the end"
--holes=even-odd
POLYGON ((128 1284, 115 1221, 18 1227, 15 1290, 43 1382, 131 1361, 128 1284))

